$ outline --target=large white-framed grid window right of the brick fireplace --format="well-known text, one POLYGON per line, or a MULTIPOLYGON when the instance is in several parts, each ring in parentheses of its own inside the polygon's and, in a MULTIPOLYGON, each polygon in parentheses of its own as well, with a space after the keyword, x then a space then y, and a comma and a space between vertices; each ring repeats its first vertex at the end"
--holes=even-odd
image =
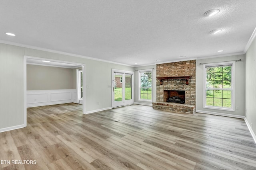
POLYGON ((204 64, 204 107, 234 111, 234 62, 204 64))

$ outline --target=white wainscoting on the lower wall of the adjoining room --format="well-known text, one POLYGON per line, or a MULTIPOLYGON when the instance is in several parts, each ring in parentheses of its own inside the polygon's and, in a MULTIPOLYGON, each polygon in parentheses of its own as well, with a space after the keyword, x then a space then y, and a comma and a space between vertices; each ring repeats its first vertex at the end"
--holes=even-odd
POLYGON ((27 107, 76 103, 76 95, 76 89, 27 90, 27 107))

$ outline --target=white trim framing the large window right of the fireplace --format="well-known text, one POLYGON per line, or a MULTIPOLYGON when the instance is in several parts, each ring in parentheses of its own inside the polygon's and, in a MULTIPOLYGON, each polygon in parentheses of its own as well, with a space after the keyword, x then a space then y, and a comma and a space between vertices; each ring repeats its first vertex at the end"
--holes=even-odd
POLYGON ((207 109, 218 109, 218 110, 226 110, 226 111, 235 111, 235 62, 220 62, 220 63, 210 63, 210 64, 203 64, 203 72, 204 72, 204 104, 203 107, 207 109), (232 79, 231 79, 231 84, 232 84, 232 92, 231 92, 231 108, 229 107, 219 107, 219 106, 206 106, 206 66, 218 66, 218 65, 226 65, 226 64, 232 64, 232 79))

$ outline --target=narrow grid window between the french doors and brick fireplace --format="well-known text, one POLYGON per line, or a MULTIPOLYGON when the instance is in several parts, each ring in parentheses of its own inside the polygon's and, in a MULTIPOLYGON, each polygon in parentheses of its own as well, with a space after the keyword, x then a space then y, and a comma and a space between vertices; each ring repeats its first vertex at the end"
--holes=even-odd
POLYGON ((139 79, 139 100, 152 101, 152 70, 140 70, 139 79))

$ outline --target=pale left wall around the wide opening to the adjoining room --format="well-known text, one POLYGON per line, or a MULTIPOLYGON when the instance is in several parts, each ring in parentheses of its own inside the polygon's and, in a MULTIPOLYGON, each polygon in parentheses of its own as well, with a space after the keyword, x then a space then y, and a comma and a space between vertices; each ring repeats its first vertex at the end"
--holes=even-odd
MULTIPOLYGON (((86 82, 86 112, 109 108, 111 104, 111 70, 134 71, 134 67, 120 64, 94 61, 81 57, 73 57, 17 47, 0 43, 0 131, 10 127, 20 127, 24 124, 23 117, 23 59, 24 55, 60 61, 85 64, 86 82), (12 68, 12 69, 10 69, 12 68), (99 105, 97 104, 99 102, 99 105)), ((26 94, 25 94, 26 95, 26 94)))

